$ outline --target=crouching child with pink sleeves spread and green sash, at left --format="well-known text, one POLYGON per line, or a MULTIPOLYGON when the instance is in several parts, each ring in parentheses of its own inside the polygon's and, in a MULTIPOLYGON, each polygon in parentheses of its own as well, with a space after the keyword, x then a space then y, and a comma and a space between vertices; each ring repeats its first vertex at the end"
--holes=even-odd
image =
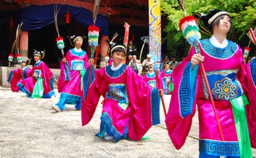
POLYGON ((20 79, 18 82, 20 91, 26 93, 28 97, 50 98, 55 94, 53 83, 57 81, 57 79, 45 63, 40 61, 40 59, 43 58, 43 54, 43 51, 34 51, 34 60, 36 63, 32 68, 32 76, 24 80, 20 79))

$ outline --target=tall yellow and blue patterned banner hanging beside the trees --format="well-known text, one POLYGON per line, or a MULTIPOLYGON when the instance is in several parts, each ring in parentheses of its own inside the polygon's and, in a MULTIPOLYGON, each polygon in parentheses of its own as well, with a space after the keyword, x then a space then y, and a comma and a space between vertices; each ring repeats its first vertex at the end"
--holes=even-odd
POLYGON ((161 62, 161 1, 149 0, 149 30, 150 30, 150 54, 155 63, 155 69, 159 69, 156 62, 161 62))

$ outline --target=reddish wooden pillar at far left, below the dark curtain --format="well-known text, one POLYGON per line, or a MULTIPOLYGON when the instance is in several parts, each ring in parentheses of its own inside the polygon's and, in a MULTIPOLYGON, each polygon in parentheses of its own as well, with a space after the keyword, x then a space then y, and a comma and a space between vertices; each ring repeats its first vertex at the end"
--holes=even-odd
POLYGON ((28 31, 20 32, 20 54, 22 58, 28 58, 28 31))

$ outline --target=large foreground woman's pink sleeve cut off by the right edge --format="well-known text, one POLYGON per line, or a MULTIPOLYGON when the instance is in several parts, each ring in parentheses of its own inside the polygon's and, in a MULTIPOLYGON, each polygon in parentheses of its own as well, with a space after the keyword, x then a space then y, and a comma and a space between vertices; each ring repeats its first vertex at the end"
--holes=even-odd
POLYGON ((245 106, 245 109, 251 147, 256 148, 256 58, 253 58, 250 64, 244 64, 239 73, 244 93, 249 101, 249 105, 245 106))

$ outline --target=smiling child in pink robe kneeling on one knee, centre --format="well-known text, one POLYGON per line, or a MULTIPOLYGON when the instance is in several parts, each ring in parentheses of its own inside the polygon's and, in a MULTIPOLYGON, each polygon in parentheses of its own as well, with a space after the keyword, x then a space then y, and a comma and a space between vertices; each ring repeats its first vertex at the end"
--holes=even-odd
MULTIPOLYGON (((127 56, 123 44, 109 42, 108 55, 113 57, 113 65, 104 67, 84 76, 84 95, 82 102, 82 126, 88 124, 94 115, 100 95, 104 97, 99 137, 118 142, 127 136, 135 141, 141 140, 152 125, 160 123, 159 91, 152 89, 141 77, 122 62, 127 56), (87 82, 86 82, 87 81, 87 82)), ((94 63, 89 60, 90 65, 94 63)), ((162 89, 160 90, 162 91, 162 89)), ((163 91, 162 91, 163 94, 163 91)))

